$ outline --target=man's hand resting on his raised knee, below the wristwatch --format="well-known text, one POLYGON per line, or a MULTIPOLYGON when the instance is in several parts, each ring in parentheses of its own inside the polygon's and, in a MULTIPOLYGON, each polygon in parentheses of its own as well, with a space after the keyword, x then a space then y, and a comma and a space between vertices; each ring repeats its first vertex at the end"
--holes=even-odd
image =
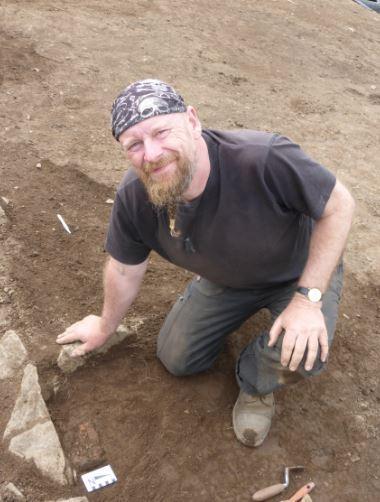
POLYGON ((312 303, 296 294, 286 309, 277 317, 269 332, 269 347, 273 347, 280 334, 285 331, 281 364, 296 371, 307 350, 305 370, 313 368, 321 347, 321 361, 327 360, 329 351, 325 320, 321 312, 321 302, 312 303))

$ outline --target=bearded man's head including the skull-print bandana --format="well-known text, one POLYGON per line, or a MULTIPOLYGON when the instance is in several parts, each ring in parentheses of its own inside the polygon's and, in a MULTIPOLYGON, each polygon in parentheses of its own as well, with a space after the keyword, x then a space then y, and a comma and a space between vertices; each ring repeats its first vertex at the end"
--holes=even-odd
POLYGON ((112 133, 157 206, 178 202, 189 188, 200 131, 194 108, 160 80, 131 84, 112 107, 112 133))

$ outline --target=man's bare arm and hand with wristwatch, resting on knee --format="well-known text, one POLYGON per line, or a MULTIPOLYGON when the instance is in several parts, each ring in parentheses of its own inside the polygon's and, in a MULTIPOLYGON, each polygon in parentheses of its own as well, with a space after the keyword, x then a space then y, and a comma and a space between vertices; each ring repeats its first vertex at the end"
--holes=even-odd
MULTIPOLYGON (((332 272, 342 256, 351 227, 355 203, 348 190, 339 182, 331 192, 320 220, 315 224, 309 257, 300 277, 299 285, 316 287, 325 292, 332 272)), ((296 293, 279 315, 270 330, 269 346, 272 347, 285 330, 282 343, 281 364, 295 371, 307 350, 305 369, 311 370, 321 347, 321 360, 328 355, 328 337, 322 303, 312 303, 296 293)))

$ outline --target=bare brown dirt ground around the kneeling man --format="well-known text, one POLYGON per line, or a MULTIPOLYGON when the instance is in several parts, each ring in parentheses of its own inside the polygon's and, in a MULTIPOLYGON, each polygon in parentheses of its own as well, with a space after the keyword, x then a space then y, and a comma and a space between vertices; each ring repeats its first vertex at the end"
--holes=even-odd
MULTIPOLYGON (((248 501, 294 464, 306 470, 288 493, 313 480, 315 501, 379 500, 380 16, 350 0, 3 0, 0 14, 0 196, 10 201, 0 334, 20 333, 74 465, 81 425, 96 430, 118 483, 89 500, 248 501), (155 255, 126 319, 137 334, 70 377, 55 365, 56 335, 101 308, 105 201, 125 169, 109 110, 127 83, 146 77, 175 85, 206 127, 289 136, 357 201, 329 369, 277 394, 257 450, 234 439, 233 367, 268 315, 231 337, 207 374, 172 377, 155 340, 191 275, 155 255)), ((18 388, 0 389, 0 431, 18 388)), ((0 482, 13 481, 28 501, 85 494, 81 482, 42 479, 5 447, 1 456, 0 482)))

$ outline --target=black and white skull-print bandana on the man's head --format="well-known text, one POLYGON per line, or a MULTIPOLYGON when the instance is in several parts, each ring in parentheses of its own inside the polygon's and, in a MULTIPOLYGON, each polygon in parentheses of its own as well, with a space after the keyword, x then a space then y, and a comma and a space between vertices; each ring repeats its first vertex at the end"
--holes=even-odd
POLYGON ((174 89, 161 80, 139 80, 126 87, 112 105, 112 134, 120 134, 133 125, 168 113, 182 113, 186 105, 174 89))

